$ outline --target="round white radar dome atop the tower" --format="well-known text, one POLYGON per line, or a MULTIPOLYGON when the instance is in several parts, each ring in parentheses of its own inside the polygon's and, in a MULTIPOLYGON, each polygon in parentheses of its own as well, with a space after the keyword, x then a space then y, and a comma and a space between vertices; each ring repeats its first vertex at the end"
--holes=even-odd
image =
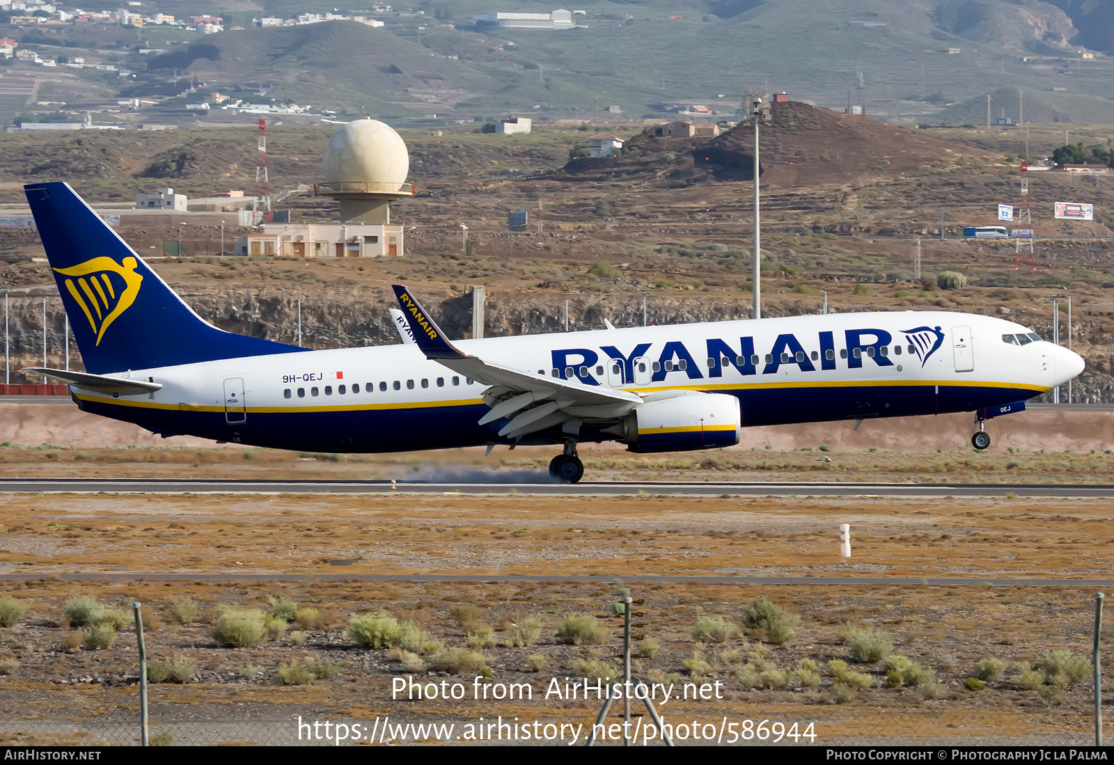
POLYGON ((410 173, 410 154, 390 125, 358 119, 333 134, 325 149, 326 183, 368 184, 370 192, 398 192, 410 173))

